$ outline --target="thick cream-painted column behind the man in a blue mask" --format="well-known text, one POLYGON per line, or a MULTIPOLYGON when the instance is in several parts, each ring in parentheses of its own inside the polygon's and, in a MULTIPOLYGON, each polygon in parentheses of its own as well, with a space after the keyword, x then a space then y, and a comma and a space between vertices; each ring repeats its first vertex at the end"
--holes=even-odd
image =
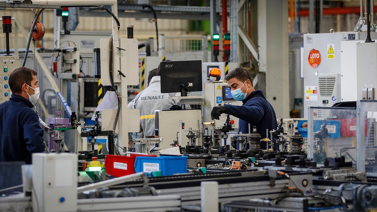
POLYGON ((289 117, 288 0, 258 0, 259 71, 277 118, 289 117))

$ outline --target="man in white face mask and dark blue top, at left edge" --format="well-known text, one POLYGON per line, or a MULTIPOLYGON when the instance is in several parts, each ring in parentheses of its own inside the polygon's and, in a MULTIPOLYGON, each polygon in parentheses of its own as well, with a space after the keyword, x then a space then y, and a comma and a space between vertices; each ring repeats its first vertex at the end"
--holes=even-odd
POLYGON ((32 110, 39 98, 37 72, 17 68, 9 76, 12 95, 0 104, 0 162, 25 161, 31 154, 44 152, 43 129, 32 110))

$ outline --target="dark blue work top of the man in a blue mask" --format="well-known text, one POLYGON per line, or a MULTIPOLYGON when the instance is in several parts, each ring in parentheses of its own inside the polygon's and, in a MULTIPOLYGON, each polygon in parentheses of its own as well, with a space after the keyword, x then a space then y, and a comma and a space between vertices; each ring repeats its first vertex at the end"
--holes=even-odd
MULTIPOLYGON (((249 133, 249 123, 251 128, 256 126, 257 132, 262 139, 267 138, 266 129, 271 131, 277 128, 277 121, 274 108, 266 100, 261 90, 251 92, 243 101, 242 106, 224 104, 225 113, 239 118, 238 132, 249 133)), ((261 147, 267 149, 266 143, 262 142, 261 147)))

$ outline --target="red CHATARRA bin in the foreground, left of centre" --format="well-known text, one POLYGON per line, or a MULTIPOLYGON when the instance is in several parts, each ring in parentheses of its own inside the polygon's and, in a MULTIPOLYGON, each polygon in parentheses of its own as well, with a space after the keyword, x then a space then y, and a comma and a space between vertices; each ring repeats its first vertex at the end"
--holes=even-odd
POLYGON ((114 177, 122 177, 136 173, 134 167, 136 156, 157 157, 157 155, 141 154, 131 154, 130 156, 106 155, 105 169, 107 174, 113 175, 114 177))

